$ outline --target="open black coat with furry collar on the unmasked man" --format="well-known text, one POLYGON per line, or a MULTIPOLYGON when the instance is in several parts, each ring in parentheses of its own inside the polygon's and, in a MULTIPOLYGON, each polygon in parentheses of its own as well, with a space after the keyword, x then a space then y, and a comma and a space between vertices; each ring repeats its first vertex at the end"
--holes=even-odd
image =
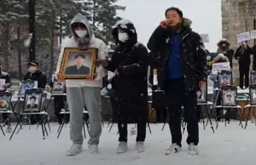
MULTIPOLYGON (((207 55, 201 37, 190 28, 191 20, 183 20, 183 37, 179 45, 179 55, 187 90, 197 90, 199 81, 207 81, 207 55)), ((167 59, 171 52, 172 33, 158 26, 148 41, 148 49, 154 52, 158 65, 158 83, 165 88, 167 59)))

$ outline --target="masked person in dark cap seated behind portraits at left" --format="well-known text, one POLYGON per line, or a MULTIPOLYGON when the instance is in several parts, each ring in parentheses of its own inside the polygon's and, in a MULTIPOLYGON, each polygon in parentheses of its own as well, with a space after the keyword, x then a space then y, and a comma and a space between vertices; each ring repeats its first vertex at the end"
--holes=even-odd
MULTIPOLYGON (((44 72, 38 69, 38 62, 33 60, 28 63, 28 66, 28 71, 23 77, 23 80, 32 80, 34 82, 38 82, 38 88, 42 88, 44 90, 47 79, 44 72)), ((38 117, 36 117, 35 115, 31 115, 30 120, 31 124, 35 124, 36 122, 38 122, 38 117)))

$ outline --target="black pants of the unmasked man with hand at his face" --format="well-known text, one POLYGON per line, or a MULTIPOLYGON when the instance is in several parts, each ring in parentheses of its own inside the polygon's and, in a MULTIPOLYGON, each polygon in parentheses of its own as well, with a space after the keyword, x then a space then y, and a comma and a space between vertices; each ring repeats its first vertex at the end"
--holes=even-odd
POLYGON ((182 79, 170 80, 166 83, 166 99, 169 111, 169 127, 172 134, 172 144, 181 146, 181 108, 184 107, 184 118, 187 122, 187 143, 198 145, 198 114, 196 90, 187 91, 182 79))

